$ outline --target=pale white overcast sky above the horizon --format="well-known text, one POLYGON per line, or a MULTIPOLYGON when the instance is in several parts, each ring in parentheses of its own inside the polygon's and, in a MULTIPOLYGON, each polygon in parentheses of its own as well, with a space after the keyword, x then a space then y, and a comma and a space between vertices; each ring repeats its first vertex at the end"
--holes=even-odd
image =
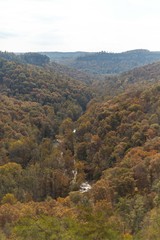
POLYGON ((0 50, 160 51, 160 0, 0 0, 0 50))

